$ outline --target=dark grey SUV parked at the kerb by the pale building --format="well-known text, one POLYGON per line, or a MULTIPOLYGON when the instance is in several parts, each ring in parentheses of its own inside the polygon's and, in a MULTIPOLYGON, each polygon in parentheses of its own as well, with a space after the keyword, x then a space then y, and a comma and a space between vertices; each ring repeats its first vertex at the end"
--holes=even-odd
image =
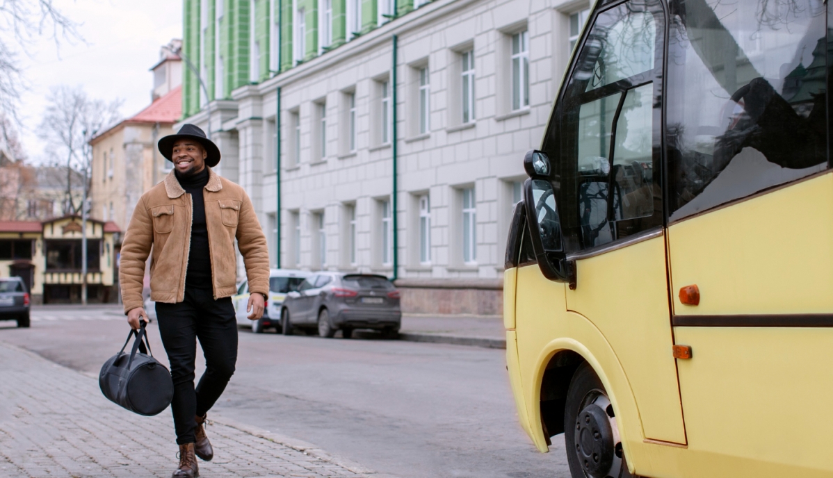
POLYGON ((399 291, 387 277, 372 274, 317 272, 287 294, 281 309, 285 335, 317 328, 322 337, 341 330, 350 338, 356 329, 372 329, 393 338, 401 324, 399 291))

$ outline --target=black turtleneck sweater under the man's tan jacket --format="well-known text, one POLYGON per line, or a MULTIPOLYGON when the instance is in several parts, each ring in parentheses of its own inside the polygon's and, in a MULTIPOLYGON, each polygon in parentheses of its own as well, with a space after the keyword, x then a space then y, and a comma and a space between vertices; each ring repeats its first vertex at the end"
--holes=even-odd
POLYGON ((211 251, 208 249, 206 207, 202 188, 208 184, 208 168, 187 177, 177 174, 182 189, 191 195, 193 205, 191 220, 191 248, 188 251, 188 268, 185 272, 185 287, 212 288, 211 251))

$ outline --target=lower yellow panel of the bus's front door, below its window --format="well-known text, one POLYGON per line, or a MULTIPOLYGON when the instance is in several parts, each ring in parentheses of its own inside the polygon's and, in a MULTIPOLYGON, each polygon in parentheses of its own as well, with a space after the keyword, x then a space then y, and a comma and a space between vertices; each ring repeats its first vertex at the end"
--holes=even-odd
POLYGON ((654 237, 576 261, 567 306, 599 328, 625 369, 646 438, 686 443, 672 356, 666 245, 654 237))

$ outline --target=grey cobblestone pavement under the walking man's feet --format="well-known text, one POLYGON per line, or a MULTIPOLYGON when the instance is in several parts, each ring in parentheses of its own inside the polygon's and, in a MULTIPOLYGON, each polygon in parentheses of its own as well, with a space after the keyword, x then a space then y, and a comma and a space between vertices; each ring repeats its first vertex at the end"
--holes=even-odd
MULTIPOLYGON (((209 418, 212 418, 209 414, 209 418)), ((309 444, 216 420, 213 461, 200 475, 378 476, 309 444)), ((0 343, 0 476, 171 476, 177 464, 170 411, 132 414, 96 380, 0 343)))

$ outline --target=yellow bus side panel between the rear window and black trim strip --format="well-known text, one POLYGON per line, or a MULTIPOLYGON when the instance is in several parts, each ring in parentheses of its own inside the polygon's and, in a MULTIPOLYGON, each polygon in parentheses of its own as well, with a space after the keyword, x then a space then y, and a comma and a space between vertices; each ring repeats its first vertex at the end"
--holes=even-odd
POLYGON ((668 229, 675 314, 833 313, 833 173, 668 229), (696 284, 700 304, 681 304, 696 284))

